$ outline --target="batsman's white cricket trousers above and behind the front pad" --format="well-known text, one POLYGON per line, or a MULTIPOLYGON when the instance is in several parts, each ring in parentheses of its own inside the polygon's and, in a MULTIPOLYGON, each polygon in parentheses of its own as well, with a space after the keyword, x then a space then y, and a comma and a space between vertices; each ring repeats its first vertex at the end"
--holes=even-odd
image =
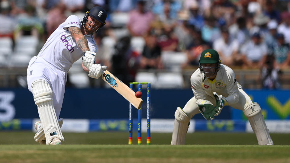
POLYGON ((46 81, 53 91, 53 106, 56 117, 58 118, 63 105, 63 97, 66 86, 66 72, 56 69, 43 58, 34 56, 30 60, 27 68, 27 85, 31 93, 31 84, 39 79, 46 81))

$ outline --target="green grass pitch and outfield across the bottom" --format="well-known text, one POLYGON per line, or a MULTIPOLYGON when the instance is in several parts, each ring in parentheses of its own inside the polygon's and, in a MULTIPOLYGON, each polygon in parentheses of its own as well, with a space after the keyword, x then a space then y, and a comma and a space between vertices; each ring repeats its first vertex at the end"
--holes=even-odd
MULTIPOLYGON (((122 132, 63 133, 63 145, 38 145, 32 132, 0 132, 0 162, 290 162, 290 134, 271 134, 273 146, 250 133, 191 133, 188 145, 169 145, 170 133, 151 133, 151 145, 127 145, 122 132)), ((146 133, 142 142, 146 143, 146 133)))

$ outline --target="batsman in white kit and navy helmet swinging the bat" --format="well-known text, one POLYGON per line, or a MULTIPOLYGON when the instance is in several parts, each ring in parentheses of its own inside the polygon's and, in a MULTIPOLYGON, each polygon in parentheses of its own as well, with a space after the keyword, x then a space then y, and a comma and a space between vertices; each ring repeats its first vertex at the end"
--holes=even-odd
POLYGON ((93 7, 81 21, 69 16, 50 35, 37 56, 27 68, 27 84, 37 105, 40 121, 35 123, 36 142, 59 145, 64 137, 60 131, 63 120, 59 119, 63 104, 66 75, 74 62, 82 57, 82 68, 89 76, 98 79, 107 66, 95 64, 97 50, 92 35, 105 25, 106 11, 93 7))

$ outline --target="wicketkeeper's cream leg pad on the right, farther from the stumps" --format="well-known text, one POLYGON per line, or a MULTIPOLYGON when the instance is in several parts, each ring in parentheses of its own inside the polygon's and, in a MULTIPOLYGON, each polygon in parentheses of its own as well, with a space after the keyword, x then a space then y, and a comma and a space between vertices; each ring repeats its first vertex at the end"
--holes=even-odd
POLYGON ((261 107, 254 102, 245 107, 243 110, 245 116, 248 118, 250 125, 256 134, 259 145, 273 145, 268 128, 263 118, 261 107))

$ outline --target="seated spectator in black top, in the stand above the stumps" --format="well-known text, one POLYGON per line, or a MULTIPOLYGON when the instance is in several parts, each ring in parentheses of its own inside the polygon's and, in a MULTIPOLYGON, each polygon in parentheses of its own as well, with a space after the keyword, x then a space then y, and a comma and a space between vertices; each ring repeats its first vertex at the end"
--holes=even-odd
POLYGON ((141 60, 141 69, 162 69, 161 48, 157 44, 155 34, 148 34, 145 36, 145 46, 143 48, 141 60))

